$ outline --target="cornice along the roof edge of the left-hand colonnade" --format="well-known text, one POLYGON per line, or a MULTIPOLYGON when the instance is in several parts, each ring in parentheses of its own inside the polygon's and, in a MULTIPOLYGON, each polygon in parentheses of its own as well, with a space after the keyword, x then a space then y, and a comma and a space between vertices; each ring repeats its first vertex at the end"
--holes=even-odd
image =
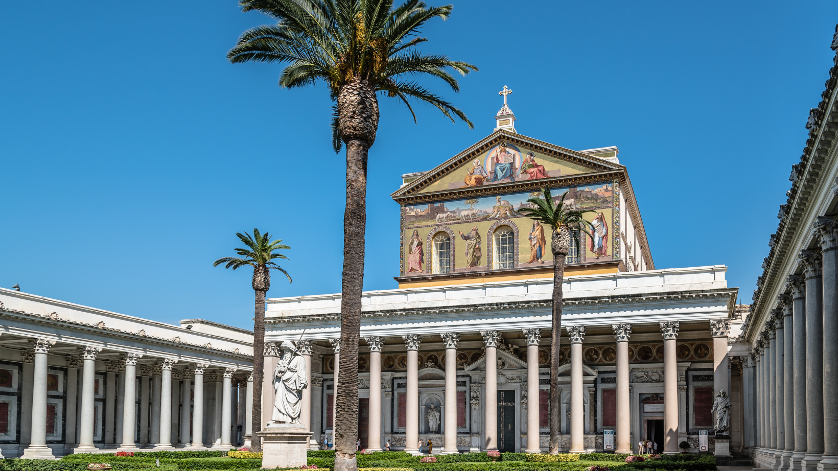
POLYGON ((130 339, 133 341, 140 341, 147 344, 166 345, 168 347, 187 349, 195 352, 206 352, 207 350, 209 350, 217 355, 228 356, 238 361, 252 361, 252 357, 250 355, 243 355, 239 351, 237 351, 238 349, 217 349, 212 347, 210 344, 189 344, 180 340, 179 337, 175 337, 174 339, 163 339, 161 337, 147 335, 142 330, 137 333, 127 332, 121 329, 113 329, 110 327, 106 327, 104 322, 91 324, 65 318, 59 318, 58 313, 28 313, 23 310, 6 308, 3 305, 2 301, 0 301, 0 318, 22 320, 26 323, 32 324, 49 325, 52 328, 62 327, 65 329, 75 330, 77 332, 83 332, 88 334, 106 334, 116 339, 130 339))

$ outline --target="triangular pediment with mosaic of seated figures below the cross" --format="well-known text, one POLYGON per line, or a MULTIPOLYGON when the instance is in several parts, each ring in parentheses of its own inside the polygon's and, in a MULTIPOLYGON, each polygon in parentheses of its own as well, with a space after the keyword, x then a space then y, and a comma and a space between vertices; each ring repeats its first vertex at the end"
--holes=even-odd
POLYGON ((623 170, 587 153, 500 130, 458 153, 436 168, 406 182, 393 198, 461 192, 463 189, 532 187, 575 175, 623 170))

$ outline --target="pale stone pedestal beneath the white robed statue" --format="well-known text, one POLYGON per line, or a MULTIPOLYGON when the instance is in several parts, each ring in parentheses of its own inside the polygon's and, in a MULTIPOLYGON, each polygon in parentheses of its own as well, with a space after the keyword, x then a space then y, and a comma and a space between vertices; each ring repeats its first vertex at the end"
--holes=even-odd
POLYGON ((272 423, 256 435, 262 439, 262 468, 299 468, 307 463, 312 432, 298 423, 272 423))

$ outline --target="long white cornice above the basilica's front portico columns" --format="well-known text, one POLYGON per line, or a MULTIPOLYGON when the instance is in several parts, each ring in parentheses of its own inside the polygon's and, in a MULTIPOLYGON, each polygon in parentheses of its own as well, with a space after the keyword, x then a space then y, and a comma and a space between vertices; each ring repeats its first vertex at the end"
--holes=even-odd
MULTIPOLYGON (((661 303, 665 301, 689 301, 700 299, 727 299, 728 314, 731 318, 733 307, 736 304, 738 290, 733 289, 716 289, 699 292, 674 292, 665 294, 648 294, 648 295, 623 295, 623 296, 605 296, 605 297, 591 297, 578 298, 572 300, 565 300, 563 302, 566 307, 575 308, 603 308, 614 305, 631 305, 641 303, 661 303)), ((362 319, 380 319, 380 318, 405 318, 405 317, 431 317, 431 316, 452 316, 457 314, 468 313, 514 313, 520 311, 532 310, 550 310, 552 301, 545 299, 544 301, 521 301, 511 303, 486 303, 486 304, 469 304, 466 306, 453 306, 445 308, 411 308, 411 309, 386 309, 378 311, 367 311, 361 313, 362 319)), ((313 315, 298 315, 287 316, 282 318, 266 318, 266 325, 281 325, 292 324, 300 322, 311 322, 313 320, 320 321, 334 321, 339 320, 340 313, 330 314, 313 314, 313 315)), ((605 324, 603 324, 605 325, 605 324)), ((608 321, 610 325, 610 321, 608 321)))

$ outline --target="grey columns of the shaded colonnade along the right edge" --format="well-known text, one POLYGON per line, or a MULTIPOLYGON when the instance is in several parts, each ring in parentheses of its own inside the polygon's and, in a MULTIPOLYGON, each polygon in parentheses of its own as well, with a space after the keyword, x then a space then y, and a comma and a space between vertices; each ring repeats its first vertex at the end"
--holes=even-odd
POLYGON ((786 279, 751 353, 757 369, 757 460, 775 469, 838 469, 838 222, 786 279))

